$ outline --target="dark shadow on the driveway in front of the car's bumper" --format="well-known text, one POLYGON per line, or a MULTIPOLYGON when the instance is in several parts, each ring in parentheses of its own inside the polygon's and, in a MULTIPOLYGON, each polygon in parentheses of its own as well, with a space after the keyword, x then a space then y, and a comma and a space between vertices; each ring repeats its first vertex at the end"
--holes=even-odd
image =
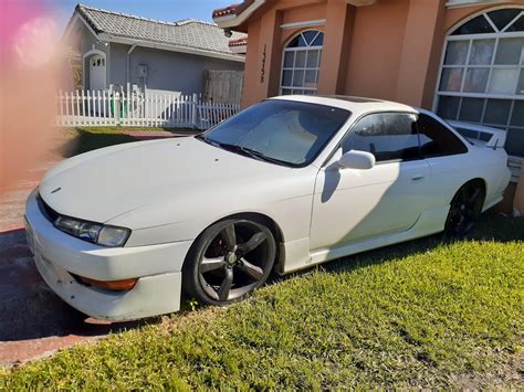
POLYGON ((48 337, 97 337, 157 322, 87 322, 87 316, 59 298, 42 280, 23 229, 0 233, 0 342, 48 337))

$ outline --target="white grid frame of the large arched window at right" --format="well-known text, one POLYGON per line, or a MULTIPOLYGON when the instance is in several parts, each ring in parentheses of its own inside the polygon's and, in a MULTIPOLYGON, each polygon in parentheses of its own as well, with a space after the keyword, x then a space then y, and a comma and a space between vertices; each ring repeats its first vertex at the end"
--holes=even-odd
MULTIPOLYGON (((433 105, 432 105, 432 110, 434 113, 438 113, 439 109, 439 103, 442 97, 451 97, 451 98, 457 98, 459 99, 458 107, 457 107, 457 114, 453 118, 444 118, 449 120, 454 120, 454 121, 464 121, 468 124, 474 124, 474 125, 480 125, 480 126, 485 126, 485 127, 493 127, 497 129, 503 129, 506 135, 509 135, 509 131, 511 129, 514 129, 515 131, 518 133, 524 133, 524 127, 518 126, 518 125, 512 125, 512 118, 515 112, 515 106, 517 102, 524 102, 524 94, 517 94, 516 92, 514 94, 505 94, 505 93, 490 93, 490 86, 492 82, 492 76, 494 74, 494 70, 514 70, 516 68, 516 86, 518 86, 518 77, 521 74, 524 74, 524 47, 522 49, 521 52, 521 57, 518 60, 517 64, 495 64, 495 59, 497 54, 497 49, 499 49, 499 42, 503 39, 512 39, 512 38, 524 38, 524 32, 507 32, 506 30, 514 23, 516 22, 520 18, 524 18, 524 6, 520 4, 507 4, 503 7, 497 7, 497 8, 491 8, 486 10, 482 10, 480 12, 476 12, 469 18, 465 18, 461 20, 459 23, 454 24, 448 32, 444 39, 444 43, 442 46, 442 52, 441 52, 441 57, 440 57, 440 64, 439 64, 439 72, 437 76, 437 85, 434 88, 434 95, 433 95, 433 105), (486 18, 490 12, 493 11, 499 11, 499 10, 504 10, 504 9, 520 9, 521 12, 517 13, 515 18, 513 18, 502 30, 497 29, 497 27, 492 22, 490 18, 486 18), (459 29, 460 27, 469 23, 471 20, 478 18, 478 17, 484 17, 485 20, 490 23, 491 28, 493 29, 493 32, 491 33, 478 33, 478 34, 462 34, 462 35, 452 35, 452 33, 459 29), (479 40, 494 40, 494 46, 493 46, 493 52, 491 56, 491 61, 489 64, 469 64, 470 61, 470 55, 472 52, 472 46, 474 41, 479 40), (446 61, 446 54, 448 51, 448 46, 451 42, 467 42, 468 43, 468 52, 465 56, 464 64, 444 64, 446 61), (461 85, 460 85, 460 91, 442 91, 441 83, 442 83, 442 76, 444 73, 444 70, 447 68, 460 68, 462 72, 461 76, 461 85), (483 93, 468 93, 463 92, 464 86, 465 86, 465 81, 467 81, 467 73, 469 70, 472 68, 488 68, 489 74, 488 74, 488 80, 485 84, 485 89, 483 93), (464 98, 478 98, 482 99, 482 112, 480 114, 480 120, 479 121, 473 121, 473 120, 465 120, 465 119, 460 119, 460 114, 461 109, 463 106, 464 98), (510 112, 507 114, 507 120, 504 125, 502 124, 493 124, 493 123, 486 123, 484 121, 485 114, 488 106, 490 104, 490 100, 510 100, 511 106, 510 106, 510 112)), ((517 159, 523 159, 524 156, 517 157, 517 159)))

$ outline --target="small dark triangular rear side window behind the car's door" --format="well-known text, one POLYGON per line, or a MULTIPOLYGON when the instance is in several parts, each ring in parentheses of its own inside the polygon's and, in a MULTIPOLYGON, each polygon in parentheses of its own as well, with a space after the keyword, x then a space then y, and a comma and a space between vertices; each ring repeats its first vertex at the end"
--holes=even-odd
POLYGON ((443 124, 421 113, 417 120, 422 157, 442 157, 468 152, 464 144, 443 124))

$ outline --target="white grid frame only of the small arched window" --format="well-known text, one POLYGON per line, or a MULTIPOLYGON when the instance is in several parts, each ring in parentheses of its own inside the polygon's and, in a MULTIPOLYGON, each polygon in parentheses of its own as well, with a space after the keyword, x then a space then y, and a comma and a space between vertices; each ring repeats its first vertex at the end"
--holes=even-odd
MULTIPOLYGON (((289 89, 292 92, 292 95, 296 95, 297 93, 294 93, 295 91, 302 91, 302 92, 311 92, 312 94, 297 94, 297 95, 317 95, 318 93, 318 80, 319 80, 319 75, 321 75, 321 62, 322 62, 322 52, 324 51, 324 43, 319 46, 311 46, 311 45, 307 45, 307 46, 301 46, 301 47, 289 47, 289 45, 293 42, 293 40, 295 40, 297 36, 301 36, 303 35, 304 33, 308 32, 308 31, 313 31, 313 32, 316 32, 316 35, 315 38, 312 40, 312 42, 314 42, 319 34, 323 34, 325 35, 325 33, 322 31, 322 30, 316 30, 316 29, 306 29, 306 30, 303 30, 294 35, 292 35, 287 42, 285 43, 284 45, 284 49, 282 50, 282 64, 281 64, 281 68, 280 68, 280 83, 279 83, 279 95, 284 95, 283 92, 289 89), (307 52, 310 51, 319 51, 319 54, 318 54, 318 60, 317 60, 317 63, 316 63, 316 67, 307 67, 307 66, 304 66, 304 67, 295 67, 295 60, 296 60, 296 53, 293 57, 293 66, 292 67, 285 67, 284 64, 285 64, 285 54, 289 53, 289 52, 306 52, 306 55, 307 55, 307 52), (316 87, 304 87, 303 85, 302 86, 293 86, 293 76, 294 76, 294 72, 295 70, 298 70, 298 71, 304 71, 304 76, 302 78, 302 84, 304 85, 304 82, 305 82, 305 72, 306 71, 315 71, 316 72, 316 87), (283 85, 283 82, 284 82, 284 71, 292 71, 292 76, 291 76, 291 86, 284 86, 283 85)), ((324 41, 324 40, 323 40, 324 41)), ((307 65, 307 57, 306 57, 306 64, 307 65)))

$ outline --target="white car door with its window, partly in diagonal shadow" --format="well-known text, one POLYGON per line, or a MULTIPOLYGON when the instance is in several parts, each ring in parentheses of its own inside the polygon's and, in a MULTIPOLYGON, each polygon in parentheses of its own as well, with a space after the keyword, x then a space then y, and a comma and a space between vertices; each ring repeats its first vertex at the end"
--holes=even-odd
POLYGON ((368 170, 340 169, 336 159, 317 174, 311 251, 406 231, 425 210, 429 165, 420 157, 416 114, 374 113, 358 119, 336 153, 375 155, 368 170))

